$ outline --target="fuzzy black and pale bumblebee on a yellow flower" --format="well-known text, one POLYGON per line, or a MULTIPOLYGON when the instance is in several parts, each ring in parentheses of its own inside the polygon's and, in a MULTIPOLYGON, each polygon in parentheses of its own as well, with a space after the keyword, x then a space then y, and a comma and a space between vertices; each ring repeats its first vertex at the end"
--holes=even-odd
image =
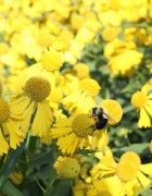
POLYGON ((94 119, 93 131, 103 130, 109 124, 110 118, 101 107, 92 108, 90 110, 90 117, 94 119))

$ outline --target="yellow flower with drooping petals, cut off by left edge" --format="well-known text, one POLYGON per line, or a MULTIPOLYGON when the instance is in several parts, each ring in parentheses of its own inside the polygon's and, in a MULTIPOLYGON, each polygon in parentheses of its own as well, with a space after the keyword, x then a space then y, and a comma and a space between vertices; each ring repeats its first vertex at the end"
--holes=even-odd
POLYGON ((8 154, 10 147, 16 149, 24 139, 24 134, 20 130, 21 117, 12 112, 9 103, 0 98, 0 156, 8 154))

